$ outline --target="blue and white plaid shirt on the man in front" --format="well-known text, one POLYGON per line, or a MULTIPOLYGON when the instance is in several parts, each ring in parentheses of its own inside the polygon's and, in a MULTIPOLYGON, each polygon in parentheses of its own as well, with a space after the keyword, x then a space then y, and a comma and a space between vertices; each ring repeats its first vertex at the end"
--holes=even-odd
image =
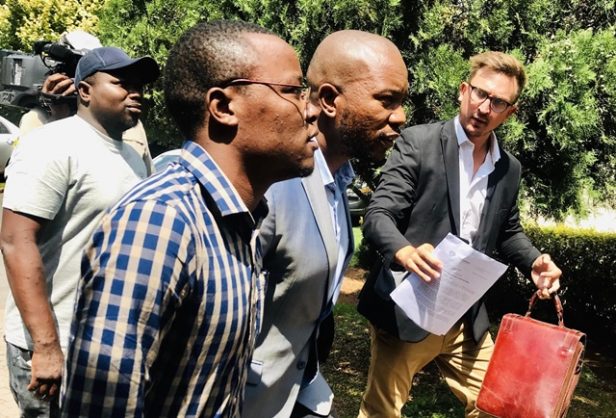
POLYGON ((63 416, 237 417, 258 332, 255 228, 215 162, 179 163, 103 218, 82 262, 63 416))

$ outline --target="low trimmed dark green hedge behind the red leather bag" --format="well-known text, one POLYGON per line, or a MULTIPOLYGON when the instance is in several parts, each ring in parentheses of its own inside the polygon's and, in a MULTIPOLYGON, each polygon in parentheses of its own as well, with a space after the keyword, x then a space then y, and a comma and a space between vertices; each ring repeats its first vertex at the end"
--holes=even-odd
MULTIPOLYGON (((540 228, 526 225, 535 246, 552 258, 563 271, 559 292, 565 325, 579 329, 596 342, 616 341, 616 234, 566 227, 540 228)), ((368 269, 375 256, 365 242, 359 245, 357 265, 368 269)), ((505 313, 523 314, 535 287, 511 268, 490 289, 487 302, 492 320, 505 313)), ((555 322, 553 304, 539 302, 533 317, 555 322)))

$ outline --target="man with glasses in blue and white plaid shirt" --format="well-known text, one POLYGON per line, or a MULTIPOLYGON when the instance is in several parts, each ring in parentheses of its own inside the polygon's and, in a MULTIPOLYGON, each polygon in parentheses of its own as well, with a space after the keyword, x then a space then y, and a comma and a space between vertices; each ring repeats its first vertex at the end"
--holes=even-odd
POLYGON ((293 48, 241 21, 171 49, 165 101, 178 163, 103 217, 82 262, 63 416, 239 417, 263 284, 258 225, 274 182, 316 144, 293 48))

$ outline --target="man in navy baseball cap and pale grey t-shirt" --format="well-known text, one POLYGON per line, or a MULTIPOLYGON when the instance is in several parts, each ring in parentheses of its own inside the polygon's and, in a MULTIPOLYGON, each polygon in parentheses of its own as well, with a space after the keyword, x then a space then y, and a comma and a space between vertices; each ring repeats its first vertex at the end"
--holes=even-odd
POLYGON ((150 57, 96 48, 77 66, 77 114, 21 139, 7 168, 0 245, 11 295, 5 336, 22 416, 56 416, 83 249, 103 212, 146 176, 122 141, 158 78, 150 57))

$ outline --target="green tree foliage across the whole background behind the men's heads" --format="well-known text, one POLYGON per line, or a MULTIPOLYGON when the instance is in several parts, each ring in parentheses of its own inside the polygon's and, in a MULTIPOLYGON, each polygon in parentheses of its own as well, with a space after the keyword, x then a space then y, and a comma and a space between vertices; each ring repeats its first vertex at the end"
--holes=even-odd
MULTIPOLYGON (((589 198, 616 205, 614 0, 0 0, 0 42, 23 48, 79 26, 164 66, 188 27, 220 18, 273 30, 297 49, 304 68, 332 31, 389 37, 409 67, 408 124, 457 113, 471 55, 513 53, 527 64, 529 84, 517 117, 498 136, 525 167, 526 206, 561 218, 583 213, 589 198)), ((146 126, 155 145, 169 148, 182 138, 161 86, 149 94, 146 126)))

